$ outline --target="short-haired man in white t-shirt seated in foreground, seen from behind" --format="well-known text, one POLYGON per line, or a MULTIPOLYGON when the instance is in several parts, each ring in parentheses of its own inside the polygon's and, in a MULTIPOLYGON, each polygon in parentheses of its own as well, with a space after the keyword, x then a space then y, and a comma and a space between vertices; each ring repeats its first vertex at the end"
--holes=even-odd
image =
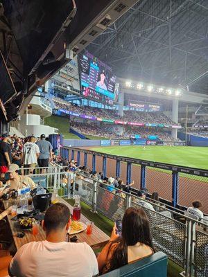
POLYGON ((92 277, 98 275, 98 262, 85 242, 65 242, 69 229, 69 208, 53 204, 44 217, 46 240, 24 244, 8 267, 17 277, 92 277))

